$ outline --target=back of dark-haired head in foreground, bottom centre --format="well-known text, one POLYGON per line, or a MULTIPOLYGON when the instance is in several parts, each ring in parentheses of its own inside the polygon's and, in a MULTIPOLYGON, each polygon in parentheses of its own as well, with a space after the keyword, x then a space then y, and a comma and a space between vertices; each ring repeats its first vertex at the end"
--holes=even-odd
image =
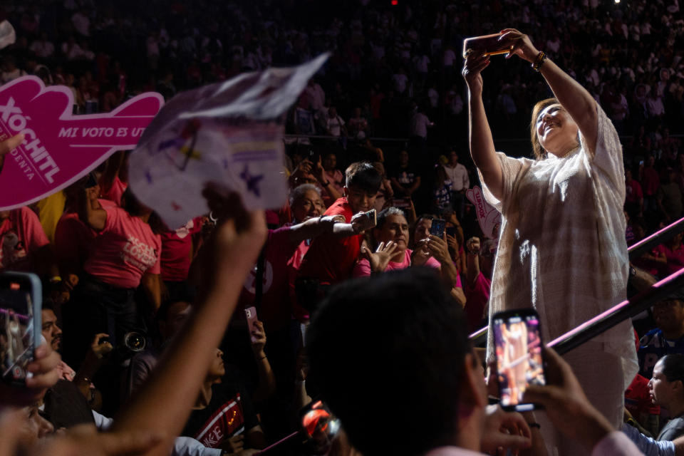
POLYGON ((363 455, 454 442, 471 348, 462 309, 431 269, 336 286, 311 321, 307 351, 311 379, 363 455))

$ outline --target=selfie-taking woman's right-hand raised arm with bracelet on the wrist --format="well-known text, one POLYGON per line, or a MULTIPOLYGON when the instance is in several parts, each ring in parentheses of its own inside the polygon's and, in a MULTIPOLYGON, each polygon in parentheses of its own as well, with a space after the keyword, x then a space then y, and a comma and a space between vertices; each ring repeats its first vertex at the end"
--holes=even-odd
MULTIPOLYGON (((502 31, 499 41, 511 43, 511 53, 519 56, 529 63, 537 61, 539 49, 535 48, 529 36, 514 28, 506 28, 502 31)), ((593 152, 596 148, 596 135, 598 132, 598 115, 596 113, 596 100, 577 81, 561 70, 554 62, 546 57, 546 61, 539 67, 539 73, 544 76, 549 88, 553 91, 561 106, 568 111, 572 120, 579 127, 587 145, 593 152)))

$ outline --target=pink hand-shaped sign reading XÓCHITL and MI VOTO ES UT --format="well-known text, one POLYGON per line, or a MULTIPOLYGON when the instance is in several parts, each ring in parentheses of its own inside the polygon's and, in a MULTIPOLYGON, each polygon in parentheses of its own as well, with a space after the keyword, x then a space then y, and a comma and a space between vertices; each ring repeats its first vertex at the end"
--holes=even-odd
POLYGON ((116 150, 133 149, 164 104, 143 93, 111 113, 72 115, 73 93, 24 76, 0 87, 0 141, 24 133, 4 157, 0 209, 38 201, 71 185, 116 150))

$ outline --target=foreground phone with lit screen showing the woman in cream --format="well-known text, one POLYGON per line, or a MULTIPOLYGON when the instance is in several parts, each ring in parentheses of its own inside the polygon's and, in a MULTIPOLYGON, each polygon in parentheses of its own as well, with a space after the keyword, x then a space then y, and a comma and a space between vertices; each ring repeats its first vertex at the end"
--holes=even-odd
POLYGON ((500 404, 524 412, 540 408, 524 403, 529 385, 546 385, 539 315, 534 309, 504 311, 492 317, 500 404))

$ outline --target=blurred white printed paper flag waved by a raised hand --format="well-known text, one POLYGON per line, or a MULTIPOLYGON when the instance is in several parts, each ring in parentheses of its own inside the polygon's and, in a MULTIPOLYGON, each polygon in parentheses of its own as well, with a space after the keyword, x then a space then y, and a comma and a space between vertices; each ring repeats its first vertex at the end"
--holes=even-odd
POLYGON ((244 73, 169 100, 130 156, 135 195, 170 227, 209 212, 202 197, 209 182, 239 192, 246 207, 280 207, 284 114, 327 58, 244 73))

